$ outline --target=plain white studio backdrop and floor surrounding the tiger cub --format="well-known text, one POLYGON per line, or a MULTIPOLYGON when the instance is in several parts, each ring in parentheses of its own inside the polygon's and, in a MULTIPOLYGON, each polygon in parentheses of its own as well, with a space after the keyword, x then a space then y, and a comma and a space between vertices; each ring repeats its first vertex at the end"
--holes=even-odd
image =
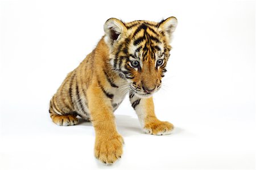
POLYGON ((255 168, 255 1, 0 1, 0 169, 255 168), (115 112, 122 159, 93 156, 90 123, 59 127, 48 103, 104 35, 108 18, 178 20, 156 115, 142 133, 129 101, 115 112))

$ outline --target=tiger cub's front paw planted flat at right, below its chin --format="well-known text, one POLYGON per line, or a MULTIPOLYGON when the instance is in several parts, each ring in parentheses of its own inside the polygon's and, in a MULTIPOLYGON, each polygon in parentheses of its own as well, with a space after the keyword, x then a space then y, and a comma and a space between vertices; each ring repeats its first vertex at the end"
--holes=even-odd
POLYGON ((147 134, 167 135, 170 134, 172 130, 174 130, 174 125, 169 122, 156 121, 146 124, 143 130, 147 134))

